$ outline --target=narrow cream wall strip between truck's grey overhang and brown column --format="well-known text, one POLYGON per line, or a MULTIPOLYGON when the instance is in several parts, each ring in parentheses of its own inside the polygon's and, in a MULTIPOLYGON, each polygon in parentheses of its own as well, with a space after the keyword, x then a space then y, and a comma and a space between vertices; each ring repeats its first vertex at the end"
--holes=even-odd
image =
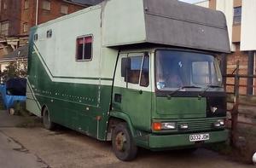
POLYGON ((232 43, 232 31, 233 31, 233 0, 217 0, 216 9, 222 11, 227 20, 227 26, 230 38, 231 51, 235 51, 236 47, 232 43))

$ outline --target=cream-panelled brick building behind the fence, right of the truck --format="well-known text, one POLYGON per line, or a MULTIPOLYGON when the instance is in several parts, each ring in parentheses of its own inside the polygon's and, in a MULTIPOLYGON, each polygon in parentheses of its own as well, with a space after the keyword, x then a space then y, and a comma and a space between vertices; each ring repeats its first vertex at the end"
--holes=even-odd
MULTIPOLYGON (((256 70, 256 0, 206 0, 196 5, 222 11, 227 19, 231 54, 227 55, 227 73, 234 72, 240 61, 240 73, 253 75, 256 70)), ((234 83, 229 79, 227 83, 234 83)), ((241 78, 243 85, 255 85, 256 81, 241 78)), ((231 88, 228 88, 231 89, 231 88)), ((241 94, 255 95, 252 87, 241 87, 241 94)))

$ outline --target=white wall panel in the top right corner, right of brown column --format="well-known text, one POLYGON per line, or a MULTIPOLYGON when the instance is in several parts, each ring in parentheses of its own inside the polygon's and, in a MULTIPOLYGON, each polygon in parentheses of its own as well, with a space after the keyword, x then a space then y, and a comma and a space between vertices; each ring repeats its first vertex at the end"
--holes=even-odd
POLYGON ((256 50, 256 0, 242 0, 241 50, 256 50))

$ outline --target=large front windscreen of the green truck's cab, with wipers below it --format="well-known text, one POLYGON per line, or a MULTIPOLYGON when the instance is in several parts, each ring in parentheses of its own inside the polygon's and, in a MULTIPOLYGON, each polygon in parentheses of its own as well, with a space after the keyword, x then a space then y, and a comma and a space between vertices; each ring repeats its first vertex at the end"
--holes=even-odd
POLYGON ((158 90, 177 90, 183 86, 222 86, 218 60, 213 55, 158 49, 155 67, 158 90))

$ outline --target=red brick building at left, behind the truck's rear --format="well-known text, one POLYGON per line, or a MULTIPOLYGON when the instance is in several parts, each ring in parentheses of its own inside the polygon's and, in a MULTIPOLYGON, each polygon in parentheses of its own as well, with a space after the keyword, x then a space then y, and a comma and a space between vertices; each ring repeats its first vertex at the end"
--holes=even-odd
MULTIPOLYGON (((0 0, 0 71, 24 49, 32 26, 71 14, 102 0, 0 0), (12 55, 12 59, 9 59, 12 55)), ((26 48, 27 49, 27 48, 26 48)))

